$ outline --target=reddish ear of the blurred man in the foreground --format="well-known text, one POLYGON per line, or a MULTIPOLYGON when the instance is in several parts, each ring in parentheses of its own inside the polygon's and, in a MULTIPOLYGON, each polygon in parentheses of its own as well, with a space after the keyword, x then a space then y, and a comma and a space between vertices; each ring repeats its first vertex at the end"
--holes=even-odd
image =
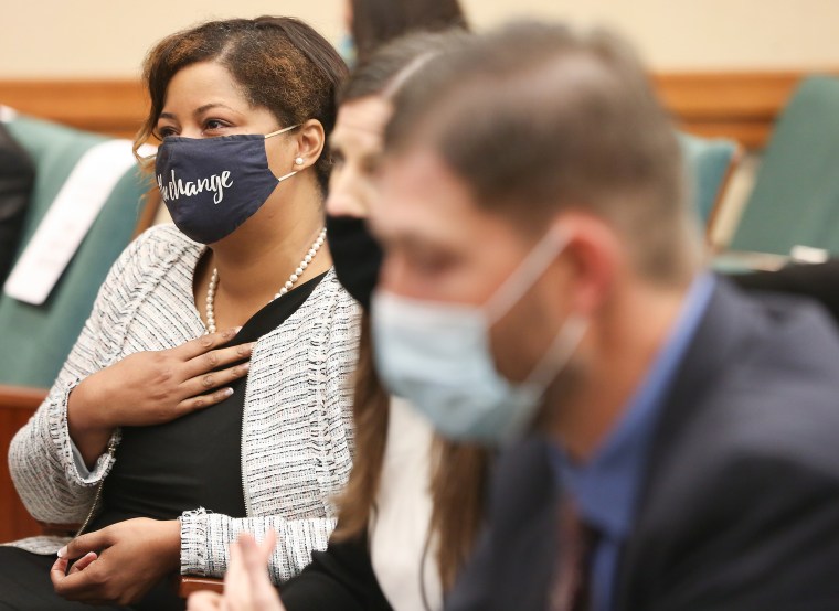
POLYGON ((563 258, 570 265, 571 308, 591 317, 607 299, 623 265, 620 240, 603 219, 582 212, 559 215, 551 232, 567 240, 563 258))

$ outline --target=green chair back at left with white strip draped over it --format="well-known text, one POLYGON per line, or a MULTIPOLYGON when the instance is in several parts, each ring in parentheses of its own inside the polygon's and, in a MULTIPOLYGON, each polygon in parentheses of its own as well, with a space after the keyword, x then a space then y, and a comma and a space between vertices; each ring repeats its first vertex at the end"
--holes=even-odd
MULTIPOLYGON (((106 137, 19 116, 6 124, 35 162, 35 185, 18 256, 82 156, 106 137)), ((31 306, 0 292, 0 384, 49 387, 87 320, 111 264, 131 240, 148 181, 126 172, 50 297, 31 306)))

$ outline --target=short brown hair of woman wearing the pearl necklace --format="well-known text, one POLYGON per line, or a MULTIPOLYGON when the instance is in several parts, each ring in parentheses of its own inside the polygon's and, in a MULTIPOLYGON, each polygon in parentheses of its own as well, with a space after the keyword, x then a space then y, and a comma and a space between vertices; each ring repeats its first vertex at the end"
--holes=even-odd
MULTIPOLYGON (((317 119, 327 137, 334 128, 336 92, 347 77, 338 52, 310 25, 290 17, 209 21, 160 41, 144 63, 151 107, 135 150, 155 135, 172 77, 199 62, 217 62, 254 107, 265 107, 280 126, 317 119)), ((325 149, 316 164, 326 192, 331 160, 325 149)))

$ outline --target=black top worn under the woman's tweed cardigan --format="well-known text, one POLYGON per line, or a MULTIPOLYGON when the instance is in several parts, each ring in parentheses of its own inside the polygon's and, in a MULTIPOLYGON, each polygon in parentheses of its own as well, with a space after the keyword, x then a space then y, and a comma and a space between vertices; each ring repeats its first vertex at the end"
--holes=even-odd
MULTIPOLYGON (((268 303, 227 345, 254 342, 283 324, 323 276, 268 303)), ((163 425, 125 427, 103 485, 103 511, 88 530, 134 517, 176 519, 198 507, 245 517, 242 416, 246 379, 231 384, 233 395, 206 409, 163 425)))

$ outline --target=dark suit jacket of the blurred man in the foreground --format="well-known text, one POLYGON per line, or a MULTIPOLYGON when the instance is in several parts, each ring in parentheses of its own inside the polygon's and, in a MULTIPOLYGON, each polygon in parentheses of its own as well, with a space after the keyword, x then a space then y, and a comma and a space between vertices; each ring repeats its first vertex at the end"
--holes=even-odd
MULTIPOLYGON (((721 282, 666 400, 623 611, 839 609, 839 340, 816 307, 721 282)), ((545 609, 557 545, 546 444, 502 459, 449 611, 545 609)))

